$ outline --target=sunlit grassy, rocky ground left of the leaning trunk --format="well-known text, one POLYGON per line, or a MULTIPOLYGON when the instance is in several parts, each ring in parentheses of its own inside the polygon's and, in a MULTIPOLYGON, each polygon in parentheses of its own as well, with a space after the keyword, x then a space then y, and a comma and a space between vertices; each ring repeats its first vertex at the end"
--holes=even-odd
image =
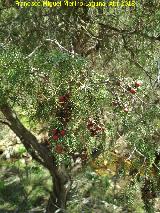
POLYGON ((0 213, 44 212, 50 176, 8 128, 0 134, 0 213))

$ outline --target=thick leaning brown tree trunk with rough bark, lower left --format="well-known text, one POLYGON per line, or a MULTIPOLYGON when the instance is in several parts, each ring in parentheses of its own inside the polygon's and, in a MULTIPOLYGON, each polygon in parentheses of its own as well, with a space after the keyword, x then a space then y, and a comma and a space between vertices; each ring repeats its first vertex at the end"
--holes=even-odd
POLYGON ((65 168, 59 168, 53 156, 49 153, 49 149, 41 145, 37 138, 25 128, 20 122, 16 113, 8 104, 0 106, 0 110, 7 120, 7 125, 20 138, 26 150, 37 162, 47 168, 52 176, 53 188, 47 206, 47 213, 65 212, 66 199, 69 187, 66 184, 69 181, 65 168))

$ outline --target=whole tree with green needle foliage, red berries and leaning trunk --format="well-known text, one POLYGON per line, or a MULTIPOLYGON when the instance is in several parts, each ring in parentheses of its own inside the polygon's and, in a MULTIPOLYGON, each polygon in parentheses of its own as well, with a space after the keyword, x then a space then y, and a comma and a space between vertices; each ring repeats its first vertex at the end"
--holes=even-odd
POLYGON ((134 151, 132 171, 150 168, 145 203, 151 170, 159 181, 158 8, 158 1, 126 11, 1 4, 1 122, 50 171, 48 212, 66 207, 75 153, 86 161, 113 150, 121 135, 134 151), (30 127, 45 126, 49 144, 23 125, 21 110, 30 127))

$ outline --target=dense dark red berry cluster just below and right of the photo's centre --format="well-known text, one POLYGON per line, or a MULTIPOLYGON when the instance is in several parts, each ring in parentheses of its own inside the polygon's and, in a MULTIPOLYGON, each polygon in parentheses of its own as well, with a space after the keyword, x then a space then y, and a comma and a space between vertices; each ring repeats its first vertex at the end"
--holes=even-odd
POLYGON ((90 131, 91 136, 95 136, 102 132, 104 128, 97 124, 93 119, 89 118, 87 122, 87 129, 90 131))

